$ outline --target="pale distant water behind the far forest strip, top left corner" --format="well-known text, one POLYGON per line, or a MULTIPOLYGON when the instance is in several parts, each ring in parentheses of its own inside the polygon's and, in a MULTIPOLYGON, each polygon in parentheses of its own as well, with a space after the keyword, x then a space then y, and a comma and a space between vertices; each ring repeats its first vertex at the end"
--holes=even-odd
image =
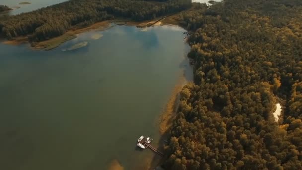
POLYGON ((30 12, 42 7, 51 6, 68 0, 1 0, 1 5, 7 5, 13 10, 9 12, 11 15, 30 12), (19 4, 20 2, 30 2, 31 4, 19 4), (18 8, 20 7, 20 8, 18 8))

